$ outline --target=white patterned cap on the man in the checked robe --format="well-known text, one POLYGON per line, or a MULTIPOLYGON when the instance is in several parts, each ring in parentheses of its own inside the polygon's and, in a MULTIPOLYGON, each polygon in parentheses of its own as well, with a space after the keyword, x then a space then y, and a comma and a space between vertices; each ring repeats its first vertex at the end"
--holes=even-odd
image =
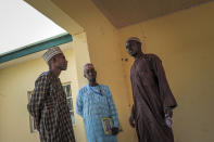
POLYGON ((50 48, 43 54, 43 60, 48 63, 54 55, 62 53, 59 47, 50 48))

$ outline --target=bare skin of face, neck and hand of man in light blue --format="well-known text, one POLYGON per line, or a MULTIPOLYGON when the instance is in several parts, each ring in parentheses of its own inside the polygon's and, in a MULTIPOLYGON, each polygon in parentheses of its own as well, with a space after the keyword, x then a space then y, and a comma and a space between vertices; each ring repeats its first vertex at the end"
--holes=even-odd
MULTIPOLYGON (((99 83, 97 82, 97 72, 95 68, 86 68, 84 69, 84 77, 88 79, 89 86, 96 87, 99 83)), ((112 134, 116 135, 118 133, 118 128, 112 128, 112 134)))

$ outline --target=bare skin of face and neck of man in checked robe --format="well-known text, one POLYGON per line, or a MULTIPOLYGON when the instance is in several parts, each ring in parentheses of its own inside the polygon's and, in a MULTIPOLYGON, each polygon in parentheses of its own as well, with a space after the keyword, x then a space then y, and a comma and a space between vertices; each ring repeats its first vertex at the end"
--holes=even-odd
POLYGON ((67 61, 64 56, 63 53, 54 55, 50 61, 49 61, 49 68, 50 70, 59 77, 62 70, 67 69, 67 61))

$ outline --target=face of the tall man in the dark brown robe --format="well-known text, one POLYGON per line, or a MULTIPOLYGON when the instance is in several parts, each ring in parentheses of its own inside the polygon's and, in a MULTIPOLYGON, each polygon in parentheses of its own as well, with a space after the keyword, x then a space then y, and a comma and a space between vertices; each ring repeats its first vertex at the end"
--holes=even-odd
POLYGON ((140 52, 140 47, 137 41, 129 40, 126 42, 126 51, 128 52, 129 55, 136 56, 138 52, 140 52))

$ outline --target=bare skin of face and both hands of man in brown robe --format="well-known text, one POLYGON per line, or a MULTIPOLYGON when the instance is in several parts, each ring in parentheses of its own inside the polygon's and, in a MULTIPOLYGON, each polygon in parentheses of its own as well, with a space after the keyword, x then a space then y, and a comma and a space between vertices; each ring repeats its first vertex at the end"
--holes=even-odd
MULTIPOLYGON (((141 43, 136 41, 136 40, 128 40, 126 42, 126 51, 128 52, 128 54, 130 56, 133 56, 135 60, 140 59, 141 56, 144 56, 144 53, 142 53, 141 51, 141 43)), ((169 108, 165 109, 165 114, 167 114, 168 116, 173 116, 173 111, 169 108)), ((129 124, 131 127, 136 127, 136 121, 135 118, 133 116, 133 113, 129 117, 129 124)))

